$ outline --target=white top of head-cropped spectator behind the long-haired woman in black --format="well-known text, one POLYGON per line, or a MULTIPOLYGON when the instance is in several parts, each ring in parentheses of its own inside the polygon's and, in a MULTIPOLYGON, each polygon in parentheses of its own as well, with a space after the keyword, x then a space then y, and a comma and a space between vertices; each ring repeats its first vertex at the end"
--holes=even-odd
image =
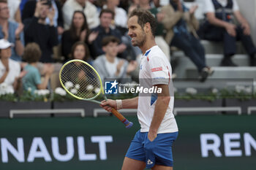
POLYGON ((90 29, 99 26, 97 7, 94 4, 91 4, 88 0, 67 0, 62 7, 65 29, 68 29, 71 25, 73 13, 77 10, 83 11, 86 15, 90 29))

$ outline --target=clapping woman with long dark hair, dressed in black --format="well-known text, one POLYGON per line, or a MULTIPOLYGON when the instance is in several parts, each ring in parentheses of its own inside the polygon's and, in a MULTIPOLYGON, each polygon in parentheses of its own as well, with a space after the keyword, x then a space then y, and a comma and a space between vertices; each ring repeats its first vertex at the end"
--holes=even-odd
POLYGON ((69 60, 71 47, 75 42, 81 41, 90 47, 97 35, 97 32, 90 31, 84 13, 75 11, 72 18, 72 24, 69 30, 64 31, 61 39, 61 53, 64 55, 64 60, 69 60))

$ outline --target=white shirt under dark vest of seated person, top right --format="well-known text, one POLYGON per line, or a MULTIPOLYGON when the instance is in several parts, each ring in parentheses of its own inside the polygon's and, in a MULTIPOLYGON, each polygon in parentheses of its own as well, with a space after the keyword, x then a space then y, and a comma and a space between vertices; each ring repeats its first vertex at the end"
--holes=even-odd
MULTIPOLYGON (((219 2, 219 4, 222 5, 222 7, 226 7, 227 6, 227 0, 217 0, 219 2)), ((205 0, 205 6, 204 6, 204 13, 207 12, 214 12, 215 13, 215 9, 214 9, 214 3, 212 3, 211 0, 205 0)), ((233 0, 233 12, 238 11, 239 7, 237 4, 236 0, 233 0)))

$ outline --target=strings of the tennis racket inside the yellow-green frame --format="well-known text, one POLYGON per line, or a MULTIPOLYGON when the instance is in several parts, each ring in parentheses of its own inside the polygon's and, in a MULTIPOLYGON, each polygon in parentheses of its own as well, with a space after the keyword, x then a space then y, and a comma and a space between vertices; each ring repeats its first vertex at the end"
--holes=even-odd
POLYGON ((79 98, 90 99, 100 93, 99 76, 86 63, 74 61, 64 66, 61 82, 69 93, 79 98))

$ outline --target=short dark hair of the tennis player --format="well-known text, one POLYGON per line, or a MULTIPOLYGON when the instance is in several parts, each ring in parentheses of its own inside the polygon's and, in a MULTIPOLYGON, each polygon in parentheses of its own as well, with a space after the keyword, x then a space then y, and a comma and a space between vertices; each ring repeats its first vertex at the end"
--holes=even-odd
POLYGON ((157 21, 156 18, 146 9, 134 9, 131 14, 129 15, 129 18, 132 18, 133 16, 138 16, 138 24, 143 28, 146 23, 149 23, 151 26, 151 33, 153 36, 155 36, 156 28, 157 28, 157 21))

